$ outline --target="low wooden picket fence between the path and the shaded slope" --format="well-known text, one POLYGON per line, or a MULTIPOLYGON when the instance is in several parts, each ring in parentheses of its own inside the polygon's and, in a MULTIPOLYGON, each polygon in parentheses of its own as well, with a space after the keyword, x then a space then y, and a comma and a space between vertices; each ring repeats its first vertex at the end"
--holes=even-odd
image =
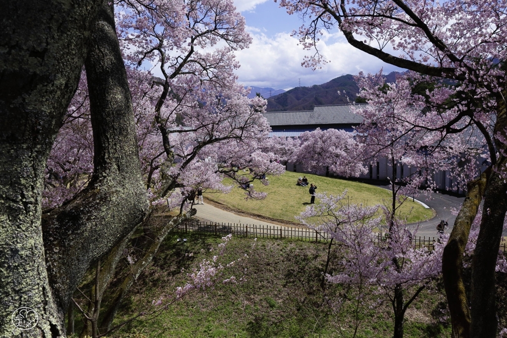
MULTIPOLYGON (((178 224, 173 231, 175 232, 200 232, 214 234, 217 236, 234 236, 251 237, 251 238, 278 238, 278 239, 295 239, 310 242, 328 242, 329 234, 318 233, 308 228, 293 228, 283 226, 258 226, 255 224, 238 224, 238 223, 216 223, 202 221, 188 221, 178 224)), ((426 247, 433 250, 434 244, 439 240, 438 237, 418 236, 412 240, 414 247, 426 247)), ((375 240, 376 244, 381 245, 387 242, 387 234, 378 233, 375 240)), ((500 250, 505 254, 507 252, 507 243, 500 244, 500 250)))

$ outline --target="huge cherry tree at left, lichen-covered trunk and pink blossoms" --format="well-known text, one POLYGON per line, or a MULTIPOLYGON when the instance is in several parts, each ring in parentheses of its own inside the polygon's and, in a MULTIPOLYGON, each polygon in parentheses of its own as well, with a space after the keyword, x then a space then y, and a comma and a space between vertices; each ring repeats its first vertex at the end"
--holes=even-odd
POLYGON ((243 155, 262 158, 259 172, 281 170, 257 155, 268 132, 264 101, 243 98, 235 83, 231 51, 249 37, 232 2, 118 6, 118 32, 111 2, 3 6, 0 335, 22 335, 10 318, 28 306, 39 314, 34 335, 64 336, 63 314, 86 271, 101 265, 99 299, 154 205, 171 194, 184 211, 154 234, 160 242, 193 213, 174 189, 226 189, 219 177, 230 163, 211 156, 213 147, 245 146, 243 155))

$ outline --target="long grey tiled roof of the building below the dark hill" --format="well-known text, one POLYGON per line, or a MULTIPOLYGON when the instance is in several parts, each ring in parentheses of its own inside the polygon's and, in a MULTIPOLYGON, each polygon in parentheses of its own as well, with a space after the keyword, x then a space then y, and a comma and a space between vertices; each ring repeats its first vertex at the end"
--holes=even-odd
POLYGON ((313 110, 272 111, 265 112, 264 116, 270 126, 357 125, 363 122, 363 117, 354 114, 349 104, 317 105, 313 110))

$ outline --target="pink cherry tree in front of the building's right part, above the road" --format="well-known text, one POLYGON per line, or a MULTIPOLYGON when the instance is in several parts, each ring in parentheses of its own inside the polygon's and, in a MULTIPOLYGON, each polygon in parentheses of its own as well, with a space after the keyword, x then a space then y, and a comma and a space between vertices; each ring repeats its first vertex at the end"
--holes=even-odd
POLYGON ((433 173, 437 171, 449 172, 459 189, 464 189, 466 182, 478 175, 479 160, 486 155, 481 153, 482 140, 474 140, 475 135, 469 131, 450 134, 441 140, 440 131, 418 126, 421 112, 426 109, 425 100, 423 97, 419 101, 406 99, 414 91, 410 79, 400 76, 395 83, 385 83, 382 71, 369 76, 359 73, 355 79, 362 88, 361 97, 369 102, 351 106, 356 114, 364 117, 356 128, 363 143, 363 153, 358 158, 371 163, 387 159, 391 168, 388 179, 392 216, 409 196, 418 196, 421 187, 427 191, 436 188, 433 173), (409 171, 403 172, 403 166, 409 171))

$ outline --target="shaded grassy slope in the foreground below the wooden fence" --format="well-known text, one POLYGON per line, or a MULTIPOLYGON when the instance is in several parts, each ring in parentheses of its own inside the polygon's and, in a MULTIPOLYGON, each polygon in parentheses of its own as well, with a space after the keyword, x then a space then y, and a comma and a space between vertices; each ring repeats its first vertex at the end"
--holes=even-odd
MULTIPOLYGON (((182 234, 172 234, 163 244, 154 264, 138 279, 134 294, 116 319, 120 322, 141 311, 151 311, 152 301, 160 296, 168 302, 186 274, 204 257, 214 254, 218 238, 187 234, 185 252, 176 242, 182 234), (192 252, 193 256, 186 256, 192 252)), ((325 244, 302 241, 247 238, 231 240, 224 262, 242 258, 226 270, 244 278, 237 284, 217 283, 213 288, 196 291, 170 305, 158 316, 132 321, 112 336, 119 337, 350 337, 353 332, 354 288, 340 285, 320 287, 327 257, 325 244), (255 246, 254 246, 255 244, 255 246), (247 254, 248 258, 244 255, 247 254), (246 270, 245 270, 246 269, 246 270), (340 311, 338 303, 342 302, 340 311)), ((332 260, 331 273, 339 270, 338 257, 332 260)), ((366 292, 360 308, 357 337, 392 336, 391 307, 377 303, 377 296, 366 292)), ((438 282, 424 290, 409 311, 405 337, 449 337, 447 321, 441 321, 445 307, 442 285, 438 282)))

